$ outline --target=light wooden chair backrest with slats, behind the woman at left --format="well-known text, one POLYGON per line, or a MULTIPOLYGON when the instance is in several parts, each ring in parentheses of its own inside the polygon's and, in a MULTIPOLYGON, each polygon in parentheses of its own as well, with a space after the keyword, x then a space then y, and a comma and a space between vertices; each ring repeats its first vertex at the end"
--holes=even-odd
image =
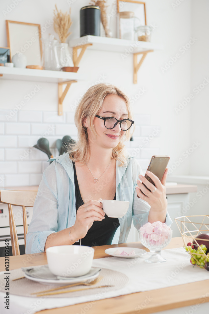
MULTIPOLYGON (((12 254, 20 255, 19 243, 17 237, 17 229, 14 220, 14 213, 12 205, 22 206, 23 209, 23 229, 24 229, 24 240, 28 232, 27 214, 25 207, 33 207, 36 199, 37 191, 9 191, 0 190, 0 202, 8 204, 9 211, 9 229, 12 244, 12 254)), ((26 243, 26 242, 25 242, 26 243)))

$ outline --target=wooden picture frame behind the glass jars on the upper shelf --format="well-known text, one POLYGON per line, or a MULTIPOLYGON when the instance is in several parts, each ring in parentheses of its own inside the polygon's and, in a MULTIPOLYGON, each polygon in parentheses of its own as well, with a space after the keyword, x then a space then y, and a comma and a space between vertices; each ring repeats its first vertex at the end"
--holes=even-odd
POLYGON ((135 0, 117 0, 117 11, 133 11, 135 16, 141 20, 141 25, 146 25, 146 4, 135 0), (135 7, 135 9, 134 9, 135 7))

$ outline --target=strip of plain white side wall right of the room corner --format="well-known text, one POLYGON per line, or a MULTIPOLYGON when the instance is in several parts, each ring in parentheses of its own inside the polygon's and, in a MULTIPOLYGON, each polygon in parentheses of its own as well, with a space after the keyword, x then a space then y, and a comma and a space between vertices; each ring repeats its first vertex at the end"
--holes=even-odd
POLYGON ((196 86, 200 91, 191 102, 191 137, 199 140, 200 146, 191 155, 190 175, 209 176, 209 2, 192 2, 192 33, 198 39, 192 50, 191 92, 196 86), (205 80, 207 78, 207 81, 205 80), (204 83, 206 85, 204 85, 204 83))

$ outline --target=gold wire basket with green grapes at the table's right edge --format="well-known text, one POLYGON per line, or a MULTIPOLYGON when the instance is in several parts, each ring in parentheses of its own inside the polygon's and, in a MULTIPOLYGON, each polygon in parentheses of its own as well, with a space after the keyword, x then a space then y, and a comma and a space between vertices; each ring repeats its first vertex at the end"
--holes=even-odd
POLYGON ((201 236, 198 238, 198 236, 203 233, 209 234, 209 215, 181 216, 175 218, 175 221, 181 233, 184 247, 193 258, 190 259, 190 262, 193 265, 196 264, 201 268, 205 268, 203 263, 209 262, 209 256, 206 255, 206 252, 198 242, 202 241, 209 247, 209 237, 208 239, 203 239, 201 236), (191 243, 192 246, 187 246, 188 243, 191 243))

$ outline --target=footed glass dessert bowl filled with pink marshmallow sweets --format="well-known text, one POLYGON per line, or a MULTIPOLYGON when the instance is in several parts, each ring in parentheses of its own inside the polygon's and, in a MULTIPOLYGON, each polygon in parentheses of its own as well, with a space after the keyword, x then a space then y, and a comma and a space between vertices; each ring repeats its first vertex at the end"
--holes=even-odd
POLYGON ((140 242, 150 250, 150 257, 146 263, 162 263, 166 259, 161 256, 161 250, 166 247, 172 238, 172 230, 160 221, 153 224, 147 223, 139 231, 140 242))

